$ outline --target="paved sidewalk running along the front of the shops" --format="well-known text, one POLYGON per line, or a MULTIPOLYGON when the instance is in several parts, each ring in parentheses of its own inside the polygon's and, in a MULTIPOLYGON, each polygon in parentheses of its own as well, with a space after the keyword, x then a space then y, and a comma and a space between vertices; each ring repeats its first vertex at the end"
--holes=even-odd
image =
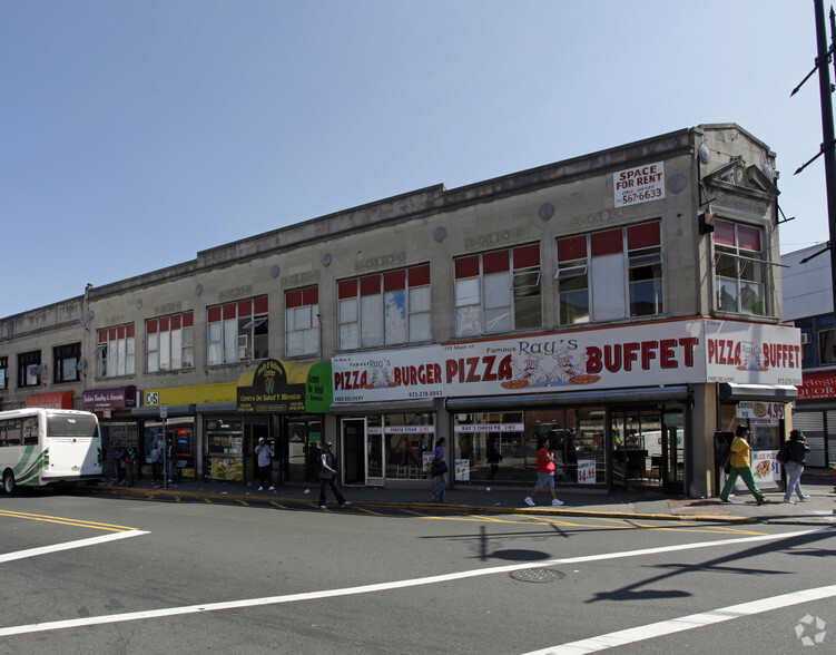
MULTIPOLYGON (((717 498, 681 498, 655 491, 624 491, 611 496, 584 492, 578 489, 558 489, 563 500, 561 507, 551 506, 548 492, 540 492, 534 500, 537 507, 528 507, 523 499, 530 488, 459 486, 447 490, 446 504, 439 504, 430 497, 427 489, 378 489, 368 487, 343 487, 343 492, 358 508, 392 507, 412 510, 468 511, 472 514, 535 514, 549 516, 600 516, 608 518, 633 518, 643 520, 691 520, 691 521, 748 521, 788 525, 813 525, 836 527, 836 493, 833 480, 824 477, 805 477, 801 480, 806 502, 785 504, 784 492, 766 492, 769 504, 758 506, 748 491, 738 492, 731 504, 721 504, 717 498)), ((118 491, 151 497, 218 498, 227 502, 239 501, 249 505, 254 501, 291 504, 311 509, 318 508, 318 485, 285 485, 275 491, 258 491, 255 485, 183 481, 168 488, 153 488, 149 481, 140 481, 136 487, 99 485, 88 487, 98 492, 118 491)), ((336 508, 328 491, 328 508, 336 508)))

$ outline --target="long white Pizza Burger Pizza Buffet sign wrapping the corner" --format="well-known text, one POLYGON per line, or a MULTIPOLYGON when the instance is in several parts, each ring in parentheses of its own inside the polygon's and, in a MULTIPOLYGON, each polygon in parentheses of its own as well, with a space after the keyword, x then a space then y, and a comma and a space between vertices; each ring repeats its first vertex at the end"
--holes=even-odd
POLYGON ((341 355, 332 369, 334 402, 350 403, 706 382, 800 384, 800 354, 796 328, 697 319, 341 355))

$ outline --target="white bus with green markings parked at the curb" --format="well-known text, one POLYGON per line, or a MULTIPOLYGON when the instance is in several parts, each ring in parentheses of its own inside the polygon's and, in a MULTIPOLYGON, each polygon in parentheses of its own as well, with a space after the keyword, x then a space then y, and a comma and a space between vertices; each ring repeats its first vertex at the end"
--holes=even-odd
POLYGON ((71 487, 98 480, 102 465, 96 414, 41 408, 0 412, 0 476, 7 493, 18 485, 71 487))

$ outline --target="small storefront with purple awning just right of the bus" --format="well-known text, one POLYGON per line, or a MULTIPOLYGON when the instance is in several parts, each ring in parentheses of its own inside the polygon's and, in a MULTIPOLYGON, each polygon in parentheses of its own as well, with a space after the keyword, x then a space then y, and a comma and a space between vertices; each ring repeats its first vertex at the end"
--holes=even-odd
POLYGON ((101 446, 106 453, 106 478, 118 479, 115 460, 117 450, 140 449, 141 426, 131 416, 136 407, 137 388, 132 384, 112 389, 91 389, 81 394, 81 408, 99 417, 101 446))

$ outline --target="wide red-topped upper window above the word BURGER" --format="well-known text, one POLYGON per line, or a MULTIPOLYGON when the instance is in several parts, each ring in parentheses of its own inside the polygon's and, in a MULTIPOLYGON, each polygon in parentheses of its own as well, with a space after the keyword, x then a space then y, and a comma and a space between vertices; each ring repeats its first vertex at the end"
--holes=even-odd
POLYGON ((341 350, 432 339, 430 264, 341 280, 337 299, 341 350))

